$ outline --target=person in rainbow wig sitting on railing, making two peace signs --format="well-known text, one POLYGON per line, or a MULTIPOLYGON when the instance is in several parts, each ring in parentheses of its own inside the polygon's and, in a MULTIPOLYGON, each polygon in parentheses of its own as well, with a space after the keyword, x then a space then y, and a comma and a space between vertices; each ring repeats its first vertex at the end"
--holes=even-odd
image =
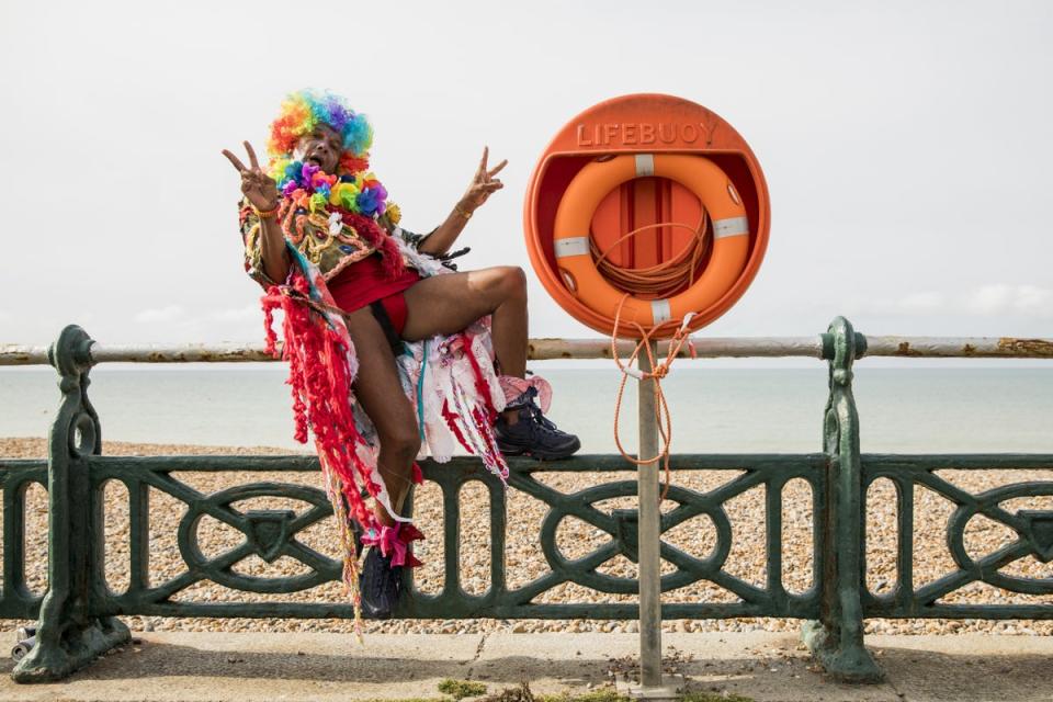
MULTIPOLYGON (((400 516, 408 488, 420 479, 415 458, 422 438, 434 449, 441 443, 440 430, 449 429, 485 462, 488 443, 496 444, 502 455, 557 460, 575 453, 580 442, 544 416, 551 395, 547 384, 537 376, 526 377, 523 270, 506 265, 455 272, 452 262, 466 251, 451 249, 474 212, 503 186, 497 176, 507 161, 490 168, 489 150, 484 148, 474 177, 450 215, 429 234, 418 235, 399 226, 398 206, 388 202, 386 189, 369 171, 372 140, 369 121, 342 98, 304 90, 283 101, 281 114, 271 125, 265 170, 248 141, 244 143, 248 165, 230 150, 223 154, 241 178, 245 268, 269 291, 272 306, 285 305, 286 355, 290 336, 299 324, 291 298, 310 307, 317 324, 328 320, 330 332, 336 329, 342 335, 346 329, 353 347, 347 369, 353 376, 354 410, 366 416, 361 418, 365 429, 360 433, 372 452, 330 445, 329 432, 319 427, 332 415, 313 415, 310 423, 316 443, 328 442, 326 455, 319 448, 324 471, 331 463, 375 458, 376 473, 365 479, 367 488, 378 484, 371 489, 377 498, 372 514, 356 511, 351 503, 360 488, 346 485, 354 475, 350 468, 341 474, 337 490, 346 499, 335 507, 354 513, 362 528, 361 541, 370 544, 355 595, 361 592, 366 612, 384 618, 390 615, 401 591, 401 568, 420 563, 406 547, 420 532, 404 529, 399 534, 399 525, 409 521, 400 516), (313 282, 305 283, 312 275, 313 282), (465 340, 460 355, 450 350, 457 346, 451 343, 454 339, 465 340), (435 342, 430 350, 429 340, 435 342), (409 346, 414 352, 408 351, 409 346), (429 354, 440 347, 446 355, 435 356, 428 365, 429 354), (490 364, 477 363, 484 355, 492 359, 490 364), (462 366, 472 366, 474 381, 464 380, 466 373, 456 371, 457 360, 462 366), (449 371, 452 380, 434 381, 433 392, 424 392, 423 378, 443 371, 449 371), (495 378, 499 389, 487 392, 495 378), (464 407, 468 395, 478 407, 489 409, 455 411, 464 407), (478 421, 487 414, 491 421, 478 421), (441 420, 429 421, 429 416, 439 415, 441 420), (460 417, 460 423, 452 416, 460 417)), ((312 335, 303 331, 299 336, 307 339, 312 335)), ((333 354, 308 350, 298 361, 292 356, 291 382, 299 373, 295 383, 301 396, 310 395, 310 383, 319 375, 310 376, 305 370, 305 364, 315 362, 310 356, 325 356, 331 363, 333 354)), ((332 369, 328 374, 333 375, 332 369)), ((314 405, 310 411, 316 414, 327 409, 327 403, 318 397, 309 403, 299 397, 297 403, 294 407, 301 412, 306 411, 304 404, 314 405)), ((307 420, 301 423, 306 426, 307 420)), ((306 441, 306 430, 301 429, 299 434, 306 441)), ((491 456, 487 467, 495 469, 495 462, 503 464, 500 455, 491 456)), ((351 586, 348 565, 346 562, 344 581, 351 586)), ((350 567, 354 570, 355 564, 350 567)), ((358 599, 355 604, 358 620, 358 599)))

